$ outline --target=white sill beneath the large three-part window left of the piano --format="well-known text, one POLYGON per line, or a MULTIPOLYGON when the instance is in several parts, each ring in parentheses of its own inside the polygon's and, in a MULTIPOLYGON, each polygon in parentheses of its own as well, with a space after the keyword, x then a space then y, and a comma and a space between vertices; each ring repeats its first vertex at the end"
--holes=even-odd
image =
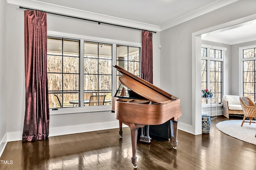
POLYGON ((50 115, 87 113, 87 112, 101 112, 101 111, 111 111, 111 105, 86 106, 86 107, 77 107, 77 108, 58 108, 58 110, 50 109, 50 115))

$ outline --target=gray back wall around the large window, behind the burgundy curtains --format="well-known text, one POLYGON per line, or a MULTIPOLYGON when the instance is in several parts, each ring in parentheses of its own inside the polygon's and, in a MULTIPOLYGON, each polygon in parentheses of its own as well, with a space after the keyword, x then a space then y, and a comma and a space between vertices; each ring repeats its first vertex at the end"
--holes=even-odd
MULTIPOLYGON (((8 140, 21 140, 25 112, 24 10, 7 4, 6 112, 8 140)), ((141 43, 141 31, 47 14, 48 31, 141 43)), ((160 86, 160 34, 153 35, 153 79, 160 86)), ((109 107, 110 108, 110 107, 109 107)), ((5 124, 4 124, 5 125, 5 124)), ((118 128, 114 113, 97 111, 50 115, 50 136, 118 128)))

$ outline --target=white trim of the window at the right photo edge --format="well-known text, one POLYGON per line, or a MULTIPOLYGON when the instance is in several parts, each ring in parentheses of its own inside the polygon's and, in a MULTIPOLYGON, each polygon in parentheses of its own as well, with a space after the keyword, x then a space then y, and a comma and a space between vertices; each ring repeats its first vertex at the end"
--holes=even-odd
POLYGON ((239 64, 238 64, 238 94, 239 96, 243 96, 243 61, 250 61, 250 60, 256 60, 256 57, 251 57, 251 58, 243 58, 243 50, 244 49, 249 49, 249 48, 256 48, 255 45, 247 45, 247 46, 242 46, 238 47, 238 57, 239 57, 239 64))

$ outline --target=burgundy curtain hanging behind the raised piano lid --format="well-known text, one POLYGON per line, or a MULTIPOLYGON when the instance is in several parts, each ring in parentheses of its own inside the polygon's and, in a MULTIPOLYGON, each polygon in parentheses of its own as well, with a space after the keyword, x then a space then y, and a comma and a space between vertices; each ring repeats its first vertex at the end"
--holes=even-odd
POLYGON ((152 32, 142 31, 141 78, 153 83, 152 32))

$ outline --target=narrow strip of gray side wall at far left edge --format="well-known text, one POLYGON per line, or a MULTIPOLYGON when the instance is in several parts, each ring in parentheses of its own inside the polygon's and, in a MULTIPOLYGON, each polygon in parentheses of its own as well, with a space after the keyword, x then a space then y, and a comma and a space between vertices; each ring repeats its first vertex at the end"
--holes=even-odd
POLYGON ((6 1, 0 1, 0 156, 6 144, 6 1))

